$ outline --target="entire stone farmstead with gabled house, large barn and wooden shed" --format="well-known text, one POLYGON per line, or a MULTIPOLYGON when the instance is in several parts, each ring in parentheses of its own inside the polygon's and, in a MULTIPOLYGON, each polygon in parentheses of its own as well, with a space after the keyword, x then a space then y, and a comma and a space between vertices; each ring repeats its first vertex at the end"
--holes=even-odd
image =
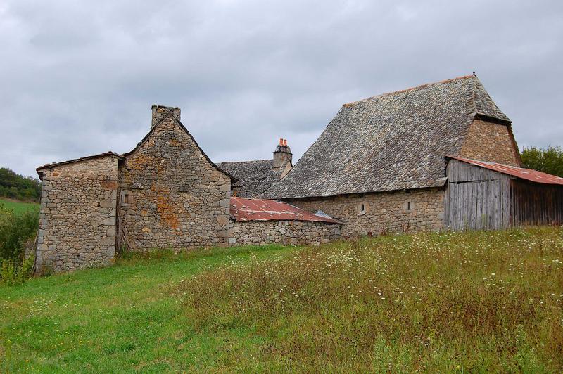
POLYGON ((37 270, 113 262, 118 250, 314 244, 396 231, 563 222, 563 179, 521 168, 511 122, 475 75, 343 105, 293 167, 215 164, 153 105, 129 153, 37 169, 37 270))

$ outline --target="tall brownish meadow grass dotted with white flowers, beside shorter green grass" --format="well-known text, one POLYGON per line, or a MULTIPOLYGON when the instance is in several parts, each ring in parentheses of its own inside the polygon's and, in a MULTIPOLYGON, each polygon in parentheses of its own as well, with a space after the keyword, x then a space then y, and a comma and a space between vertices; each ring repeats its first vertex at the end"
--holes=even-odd
MULTIPOLYGON (((184 280, 196 330, 243 329, 241 368, 563 370, 563 231, 310 247, 184 280)), ((229 349, 229 342, 224 349, 229 349)))

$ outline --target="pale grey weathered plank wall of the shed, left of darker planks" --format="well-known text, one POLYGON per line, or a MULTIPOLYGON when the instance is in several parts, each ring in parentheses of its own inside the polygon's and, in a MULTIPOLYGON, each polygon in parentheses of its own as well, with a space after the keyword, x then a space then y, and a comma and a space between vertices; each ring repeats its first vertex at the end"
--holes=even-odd
POLYGON ((446 169, 445 224, 453 230, 507 228, 510 177, 450 160, 446 169))

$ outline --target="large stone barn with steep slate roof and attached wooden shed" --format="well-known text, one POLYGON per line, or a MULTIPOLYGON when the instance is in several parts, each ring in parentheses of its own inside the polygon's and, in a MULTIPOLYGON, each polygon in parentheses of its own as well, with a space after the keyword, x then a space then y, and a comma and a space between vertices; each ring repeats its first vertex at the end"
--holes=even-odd
POLYGON ((469 75, 344 104, 262 197, 322 209, 343 223, 344 237, 560 223, 561 188, 527 183, 521 176, 530 172, 521 169, 510 119, 469 75), (510 186, 484 186, 474 195, 462 190, 469 184, 448 181, 447 155, 501 165, 519 177, 497 172, 510 186), (487 199, 493 212, 479 205, 487 199))

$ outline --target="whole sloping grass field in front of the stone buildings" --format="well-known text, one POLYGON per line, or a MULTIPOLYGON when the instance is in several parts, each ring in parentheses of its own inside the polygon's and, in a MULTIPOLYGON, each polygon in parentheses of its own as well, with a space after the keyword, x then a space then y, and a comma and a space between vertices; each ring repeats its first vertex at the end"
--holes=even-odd
POLYGON ((0 371, 561 372, 562 235, 129 255, 0 288, 0 371))

